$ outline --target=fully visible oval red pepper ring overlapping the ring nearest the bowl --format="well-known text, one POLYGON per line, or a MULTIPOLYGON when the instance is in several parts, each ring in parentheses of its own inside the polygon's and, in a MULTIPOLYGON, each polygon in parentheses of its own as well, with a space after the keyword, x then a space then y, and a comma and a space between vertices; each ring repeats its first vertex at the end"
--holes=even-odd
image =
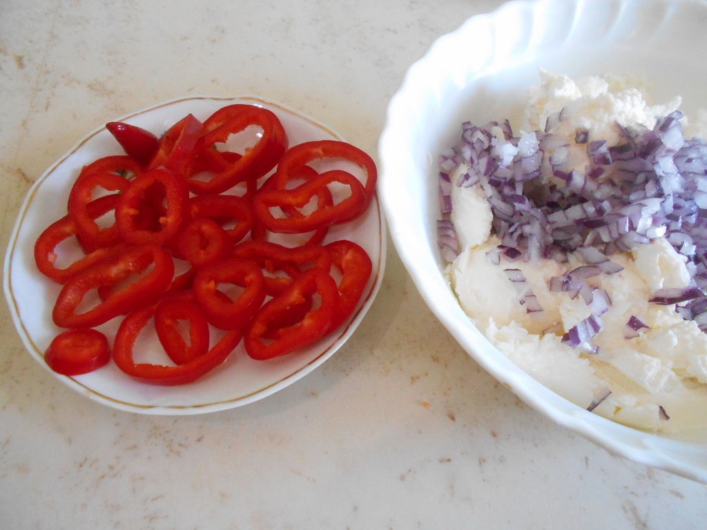
POLYGON ((253 197, 253 212, 260 223, 271 232, 300 234, 319 230, 355 219, 366 211, 368 195, 361 181, 343 170, 330 170, 317 174, 295 189, 273 189, 268 187, 253 197), (301 216, 275 217, 271 208, 302 208, 320 194, 329 184, 339 182, 349 187, 351 194, 337 204, 317 207, 301 216))

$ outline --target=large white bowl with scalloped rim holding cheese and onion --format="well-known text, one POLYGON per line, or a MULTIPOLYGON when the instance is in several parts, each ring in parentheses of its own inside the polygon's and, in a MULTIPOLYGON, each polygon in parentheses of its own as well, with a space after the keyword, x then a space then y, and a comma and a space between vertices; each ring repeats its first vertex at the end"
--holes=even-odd
POLYGON ((440 37, 392 98, 379 145, 381 200, 398 253, 431 310, 491 375, 537 411, 612 452, 707 482, 707 433, 652 435, 595 416, 549 391, 501 354, 462 312, 436 249, 437 160, 460 124, 518 124, 538 69, 577 78, 639 74, 657 102, 707 107, 707 3, 661 0, 512 1, 440 37))

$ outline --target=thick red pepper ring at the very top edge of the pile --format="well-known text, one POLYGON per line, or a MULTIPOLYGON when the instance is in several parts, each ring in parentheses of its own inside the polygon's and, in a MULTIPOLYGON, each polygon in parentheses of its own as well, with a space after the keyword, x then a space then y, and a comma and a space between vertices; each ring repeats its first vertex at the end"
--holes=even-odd
MULTIPOLYGON (((255 145, 247 148, 238 160, 225 165, 223 170, 212 172, 211 179, 189 179, 189 189, 194 194, 223 193, 240 182, 252 185, 277 165, 287 149, 285 129, 274 112, 255 105, 228 105, 206 119, 206 132, 194 148, 197 157, 202 151, 213 149, 216 143, 226 143, 231 134, 245 131, 252 125, 262 129, 262 136, 255 145)), ((221 162, 225 160, 225 157, 221 158, 221 162)))

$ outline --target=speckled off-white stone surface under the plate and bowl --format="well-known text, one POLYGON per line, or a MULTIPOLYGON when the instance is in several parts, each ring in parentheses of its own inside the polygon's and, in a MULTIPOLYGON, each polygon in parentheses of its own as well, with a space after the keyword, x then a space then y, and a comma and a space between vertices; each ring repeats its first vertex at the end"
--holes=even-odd
MULTIPOLYGON (((88 131, 182 95, 254 94, 375 155, 390 96, 498 0, 4 0, 6 247, 88 131)), ((1 311, 3 529, 700 529, 707 486, 612 456, 457 346, 388 247, 378 299, 320 369, 242 408, 139 416, 57 382, 1 311)))

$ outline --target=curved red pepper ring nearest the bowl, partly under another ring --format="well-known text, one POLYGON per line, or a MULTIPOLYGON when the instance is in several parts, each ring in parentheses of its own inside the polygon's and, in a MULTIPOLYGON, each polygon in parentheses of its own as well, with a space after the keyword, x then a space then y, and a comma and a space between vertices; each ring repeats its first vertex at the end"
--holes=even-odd
POLYGON ((277 165, 277 170, 273 175, 274 187, 276 189, 286 189, 286 184, 291 179, 298 177, 298 169, 310 163, 315 163, 322 159, 341 159, 361 167, 366 173, 366 189, 368 204, 373 200, 375 194, 375 184, 378 182, 378 170, 375 167, 373 158, 350 143, 337 140, 319 140, 300 143, 288 149, 277 165))

